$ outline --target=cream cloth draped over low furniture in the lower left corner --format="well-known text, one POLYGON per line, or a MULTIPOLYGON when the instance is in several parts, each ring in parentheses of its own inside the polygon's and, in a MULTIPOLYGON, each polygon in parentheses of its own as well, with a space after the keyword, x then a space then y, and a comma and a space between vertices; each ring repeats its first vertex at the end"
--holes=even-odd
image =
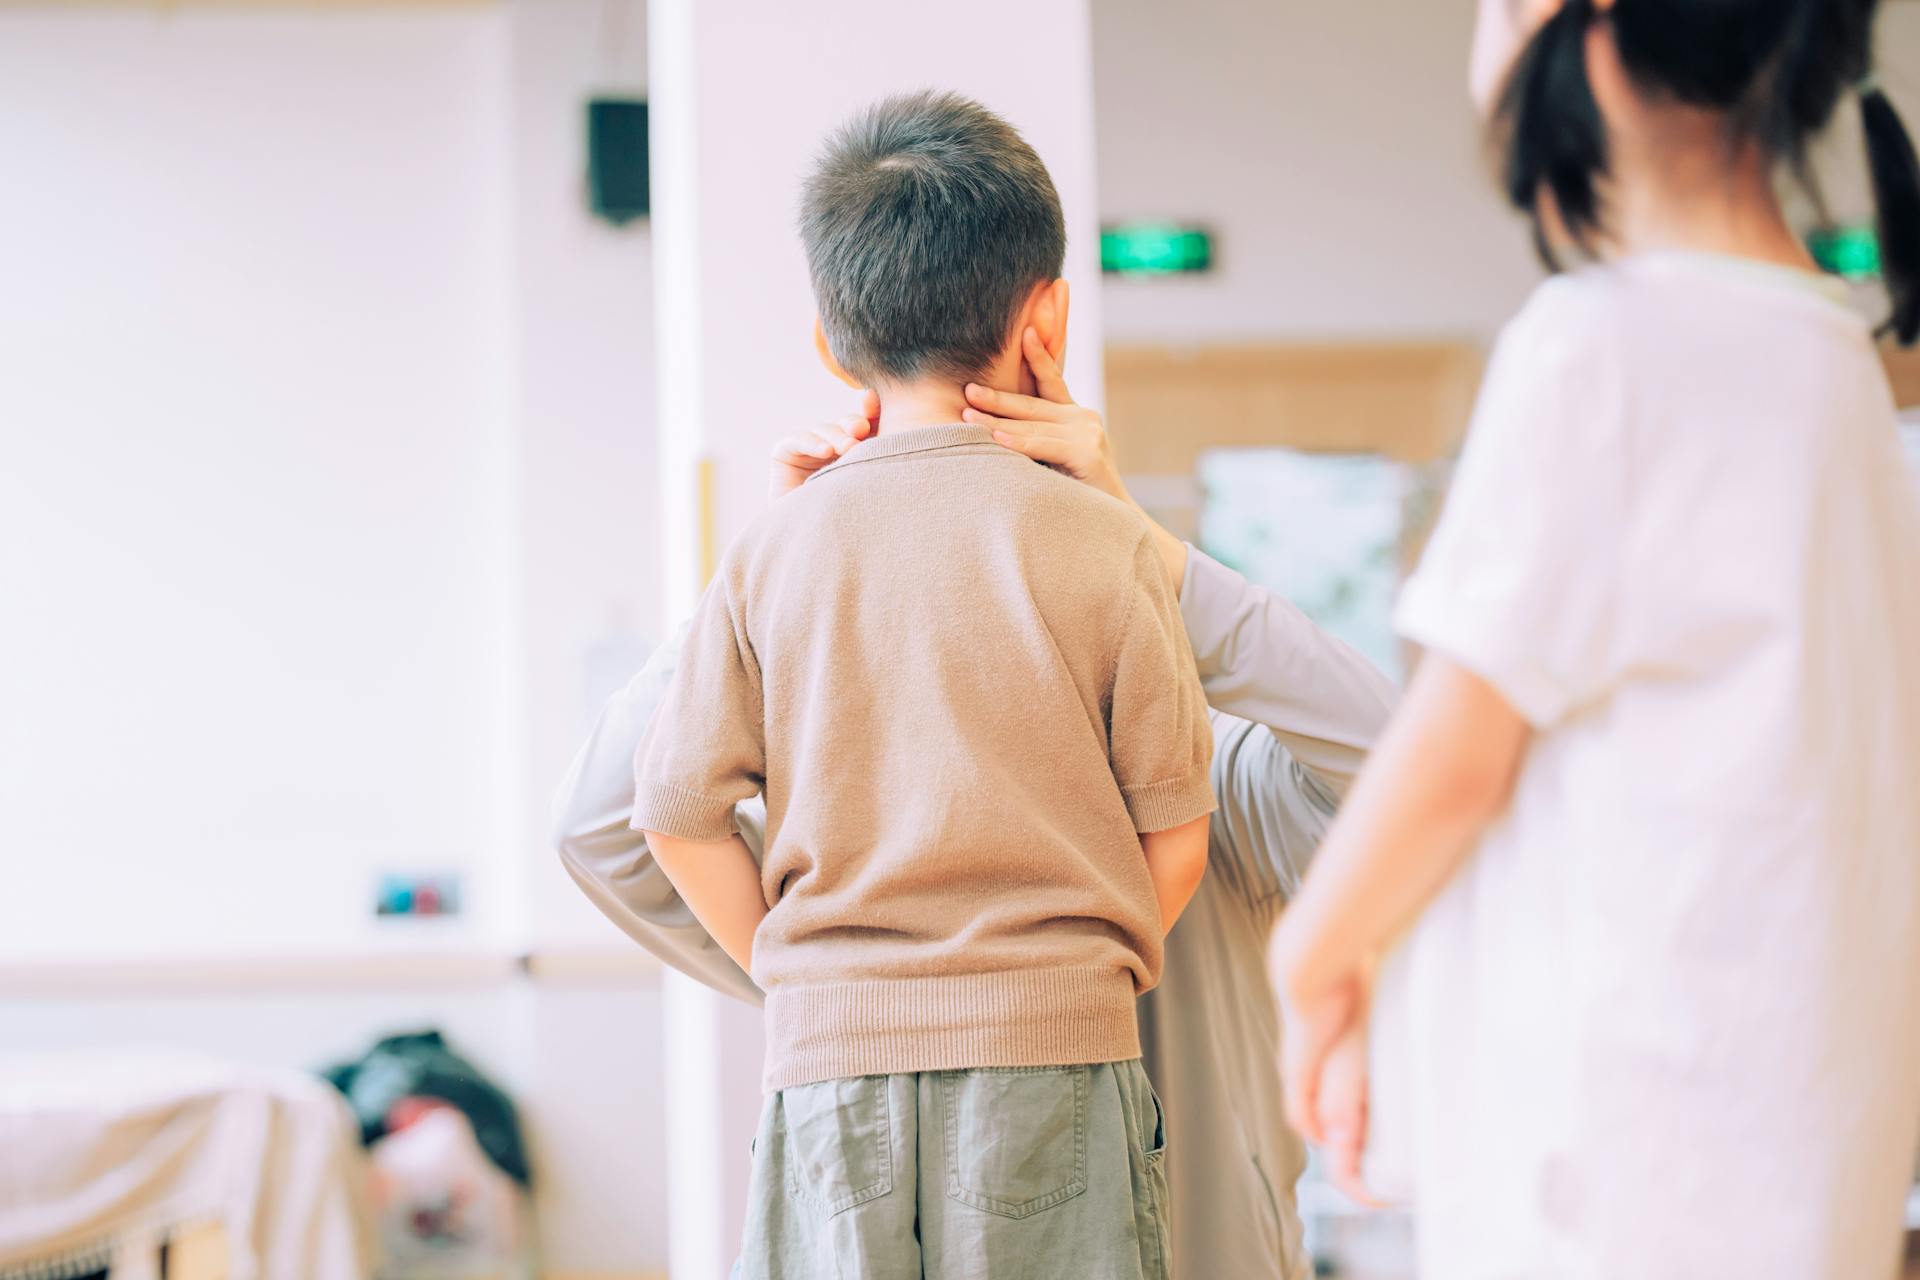
POLYGON ((207 1222, 230 1280, 371 1274, 359 1134, 324 1080, 175 1052, 0 1055, 0 1278, 125 1274, 207 1222))

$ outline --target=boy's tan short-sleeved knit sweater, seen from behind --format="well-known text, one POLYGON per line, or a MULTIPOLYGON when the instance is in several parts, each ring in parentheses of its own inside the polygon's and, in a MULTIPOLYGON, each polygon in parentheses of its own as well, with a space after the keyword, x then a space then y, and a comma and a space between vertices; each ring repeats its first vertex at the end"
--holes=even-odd
POLYGON ((1139 833, 1212 812, 1206 700, 1133 509, 983 428, 881 434, 728 551, 634 827, 766 793, 766 1088, 1117 1061, 1160 981, 1139 833))

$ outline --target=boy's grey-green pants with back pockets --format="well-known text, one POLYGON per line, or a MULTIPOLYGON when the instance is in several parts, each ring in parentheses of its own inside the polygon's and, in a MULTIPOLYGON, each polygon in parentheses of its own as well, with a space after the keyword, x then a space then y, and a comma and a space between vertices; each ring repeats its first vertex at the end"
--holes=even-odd
POLYGON ((772 1094, 739 1280, 1167 1280, 1165 1128, 1139 1059, 772 1094))

